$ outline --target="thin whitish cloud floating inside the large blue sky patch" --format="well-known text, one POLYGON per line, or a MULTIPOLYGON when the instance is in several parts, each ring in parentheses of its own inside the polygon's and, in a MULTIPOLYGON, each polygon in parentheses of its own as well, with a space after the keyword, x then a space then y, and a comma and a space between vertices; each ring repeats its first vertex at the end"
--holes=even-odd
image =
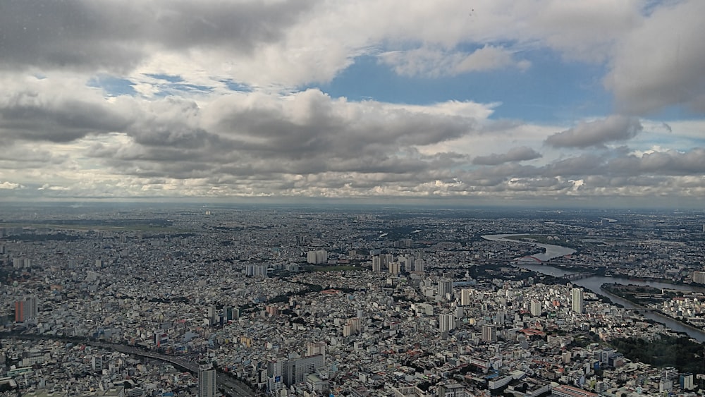
POLYGON ((476 49, 470 54, 422 47, 407 51, 388 51, 380 54, 379 58, 383 63, 393 66, 399 75, 433 78, 510 66, 525 70, 531 65, 526 60, 516 61, 511 51, 491 45, 476 49))

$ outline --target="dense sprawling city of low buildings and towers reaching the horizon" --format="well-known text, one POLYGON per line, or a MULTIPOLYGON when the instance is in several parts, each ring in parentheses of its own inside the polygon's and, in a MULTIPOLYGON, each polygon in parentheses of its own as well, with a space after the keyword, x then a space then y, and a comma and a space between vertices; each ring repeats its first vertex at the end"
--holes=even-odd
POLYGON ((8 396, 697 396, 705 387, 703 212, 1 211, 8 396), (607 283, 651 288, 637 295, 658 302, 627 300, 607 283), (638 355, 654 343, 683 350, 638 355))

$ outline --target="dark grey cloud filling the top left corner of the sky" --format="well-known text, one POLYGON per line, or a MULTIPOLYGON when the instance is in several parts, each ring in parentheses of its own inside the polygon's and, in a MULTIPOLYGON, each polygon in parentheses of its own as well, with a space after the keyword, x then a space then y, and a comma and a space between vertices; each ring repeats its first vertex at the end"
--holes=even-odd
POLYGON ((126 71, 154 49, 250 52, 281 39, 312 1, 9 0, 0 66, 126 71))

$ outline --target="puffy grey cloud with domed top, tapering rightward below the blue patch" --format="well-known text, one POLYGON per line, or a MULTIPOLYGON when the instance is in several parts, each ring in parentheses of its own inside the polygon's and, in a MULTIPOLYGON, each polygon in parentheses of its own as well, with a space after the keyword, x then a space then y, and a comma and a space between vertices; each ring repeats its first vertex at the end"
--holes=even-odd
POLYGON ((257 157, 384 159, 400 149, 472 133, 474 118, 426 114, 382 104, 336 104, 318 90, 297 94, 295 113, 262 103, 228 106, 214 132, 257 157), (342 111, 345 109, 345 111, 342 111))

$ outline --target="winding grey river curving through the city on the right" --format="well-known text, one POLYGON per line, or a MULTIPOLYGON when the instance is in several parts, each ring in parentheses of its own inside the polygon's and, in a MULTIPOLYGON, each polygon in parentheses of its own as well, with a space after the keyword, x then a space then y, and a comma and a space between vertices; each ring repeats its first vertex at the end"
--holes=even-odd
MULTIPOLYGON (((485 238, 486 240, 492 240, 492 241, 512 241, 514 243, 526 243, 526 244, 537 245, 541 248, 545 248, 546 252, 544 254, 533 255, 534 257, 537 257, 538 259, 541 259, 542 261, 547 261, 548 259, 552 259, 554 257, 562 257, 565 255, 570 255, 573 252, 575 252, 575 250, 573 250, 572 248, 560 247, 559 245, 529 243, 528 241, 510 240, 507 238, 507 237, 512 237, 512 236, 523 236, 523 235, 522 234, 493 234, 493 235, 489 235, 489 236, 482 236, 482 238, 485 238)), ((574 273, 573 271, 559 269, 558 267, 546 266, 544 264, 531 264, 531 263, 527 263, 527 262, 521 262, 518 266, 520 266, 524 269, 529 269, 531 271, 536 271, 537 273, 548 274, 549 276, 560 277, 560 276, 565 276, 566 274, 573 274, 574 273)), ((625 300, 623 298, 619 298, 614 295, 608 295, 605 291, 602 290, 602 288, 601 288, 602 284, 605 284, 605 283, 619 283, 619 284, 625 284, 625 285, 626 284, 634 284, 634 285, 638 285, 638 286, 652 286, 654 288, 669 288, 669 289, 678 289, 678 290, 682 290, 682 291, 705 292, 705 288, 692 287, 692 286, 680 286, 680 285, 669 284, 669 283, 658 283, 656 281, 637 281, 637 280, 632 280, 632 279, 625 279, 622 277, 593 276, 593 277, 587 277, 585 279, 575 280, 575 281, 572 281, 572 283, 574 283, 577 286, 581 286, 582 288, 586 288, 589 291, 592 291, 592 292, 597 293, 599 295, 606 296, 606 297, 610 298, 610 300, 612 300, 614 303, 619 303, 620 305, 623 305, 627 309, 635 309, 634 304, 631 303, 629 300, 625 300)), ((661 324, 665 324, 666 326, 668 326, 668 328, 673 329, 673 331, 685 332, 691 338, 697 339, 697 341, 700 341, 700 342, 705 342, 705 331, 701 331, 701 330, 686 326, 685 324, 677 322, 668 316, 664 316, 663 314, 654 313, 654 312, 642 312, 642 314, 646 318, 660 322, 661 324)))

